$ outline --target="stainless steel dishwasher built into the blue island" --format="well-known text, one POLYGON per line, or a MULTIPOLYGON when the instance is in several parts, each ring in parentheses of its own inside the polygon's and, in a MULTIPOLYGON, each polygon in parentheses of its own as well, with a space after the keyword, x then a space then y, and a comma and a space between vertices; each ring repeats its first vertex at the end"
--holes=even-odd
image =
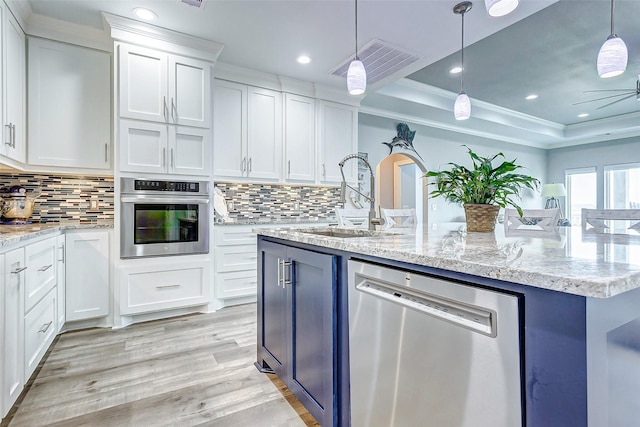
POLYGON ((351 425, 522 425, 518 297, 349 261, 351 425))

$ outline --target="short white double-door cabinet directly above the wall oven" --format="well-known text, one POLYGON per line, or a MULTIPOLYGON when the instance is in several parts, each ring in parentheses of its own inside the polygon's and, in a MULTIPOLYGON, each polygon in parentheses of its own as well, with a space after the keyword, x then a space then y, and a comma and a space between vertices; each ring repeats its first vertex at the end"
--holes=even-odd
POLYGON ((211 131, 120 120, 120 170, 208 175, 211 131))

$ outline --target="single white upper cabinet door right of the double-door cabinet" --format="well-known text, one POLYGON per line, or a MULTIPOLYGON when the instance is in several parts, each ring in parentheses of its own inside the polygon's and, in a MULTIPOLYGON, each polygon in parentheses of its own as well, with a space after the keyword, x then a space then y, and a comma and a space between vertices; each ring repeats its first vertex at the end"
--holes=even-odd
POLYGON ((285 94, 285 178, 315 180, 315 100, 285 94))

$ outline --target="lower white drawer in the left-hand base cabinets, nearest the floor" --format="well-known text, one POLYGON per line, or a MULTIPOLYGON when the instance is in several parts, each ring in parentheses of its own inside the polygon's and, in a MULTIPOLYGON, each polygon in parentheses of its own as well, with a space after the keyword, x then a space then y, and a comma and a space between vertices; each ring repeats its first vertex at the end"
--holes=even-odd
POLYGON ((56 289, 24 318, 24 377, 28 379, 56 336, 56 289))

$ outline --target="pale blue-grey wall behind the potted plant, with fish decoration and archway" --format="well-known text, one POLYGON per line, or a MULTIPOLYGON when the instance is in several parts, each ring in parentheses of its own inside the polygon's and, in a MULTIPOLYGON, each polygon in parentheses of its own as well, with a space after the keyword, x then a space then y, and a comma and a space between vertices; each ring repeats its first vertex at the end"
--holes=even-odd
MULTIPOLYGON (((389 154, 389 148, 382 142, 391 142, 396 136, 397 124, 398 121, 393 119, 359 114, 358 151, 368 153, 369 161, 374 170, 376 165, 389 154)), ((480 156, 492 156, 503 152, 508 160, 516 158, 518 164, 525 166, 522 173, 534 176, 541 182, 544 182, 544 178, 548 175, 546 150, 470 137, 409 122, 407 124, 411 130, 416 131, 413 146, 424 159, 423 165, 427 170, 445 169, 448 162, 470 166, 471 161, 467 149, 461 146, 466 144, 480 156)), ((395 149, 394 153, 405 151, 395 149)), ((527 190, 523 193, 523 199, 520 203, 522 207, 541 208, 544 206, 544 200, 539 193, 533 194, 527 190)), ((452 205, 442 198, 429 198, 429 224, 458 220, 464 220, 464 210, 461 206, 452 205), (436 210, 433 210, 434 206, 436 210)))

